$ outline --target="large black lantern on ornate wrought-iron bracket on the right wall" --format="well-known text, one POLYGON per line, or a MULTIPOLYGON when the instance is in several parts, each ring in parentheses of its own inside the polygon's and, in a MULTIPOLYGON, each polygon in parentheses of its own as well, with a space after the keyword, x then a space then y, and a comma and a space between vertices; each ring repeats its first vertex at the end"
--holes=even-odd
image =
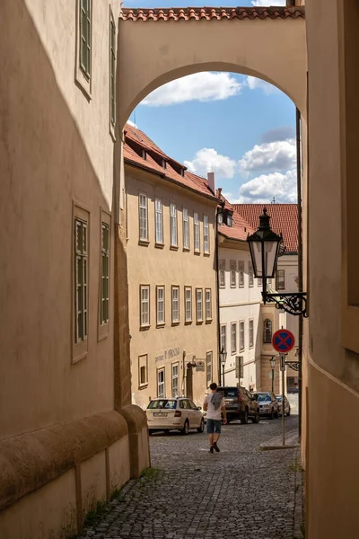
POLYGON ((250 245, 254 277, 262 279, 263 303, 275 303, 277 309, 284 309, 286 313, 294 314, 294 316, 302 314, 306 317, 308 314, 307 294, 305 292, 267 293, 267 278, 275 277, 278 256, 284 253, 282 234, 278 235, 273 232, 269 225, 269 219, 267 208, 263 208, 263 214, 259 216, 258 230, 247 238, 250 245))

